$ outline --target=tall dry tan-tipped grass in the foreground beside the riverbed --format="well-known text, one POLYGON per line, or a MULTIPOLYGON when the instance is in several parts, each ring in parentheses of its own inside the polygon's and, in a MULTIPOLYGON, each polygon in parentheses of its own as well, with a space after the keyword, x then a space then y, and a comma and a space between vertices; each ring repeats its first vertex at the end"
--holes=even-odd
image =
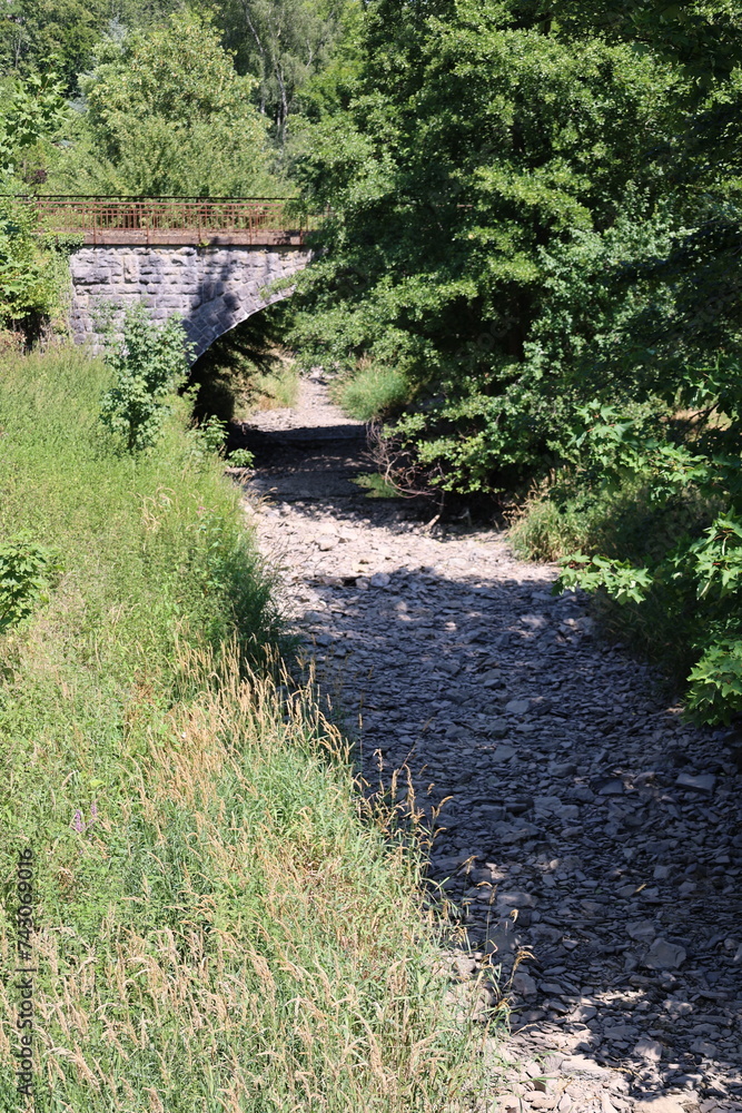
MULTIPOLYGON (((196 695, 147 710, 96 821, 36 840, 37 1107, 476 1107, 486 1028, 446 1005, 419 857, 311 688, 178 663, 196 695)), ((8 1101, 9 987, 0 1015, 8 1101)))

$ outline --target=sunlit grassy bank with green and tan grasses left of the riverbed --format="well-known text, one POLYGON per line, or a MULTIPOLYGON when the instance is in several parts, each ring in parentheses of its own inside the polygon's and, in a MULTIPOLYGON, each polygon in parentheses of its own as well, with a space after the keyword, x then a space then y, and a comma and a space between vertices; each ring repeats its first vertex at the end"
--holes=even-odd
MULTIPOLYGON (((0 367, 0 534, 43 553, 0 634, 0 954, 30 846, 34 1110, 464 1107, 418 859, 313 693, 260 669, 269 583, 218 462, 182 412, 112 455, 106 385, 77 352, 0 367)), ((0 983, 3 1113, 19 1006, 0 983)))

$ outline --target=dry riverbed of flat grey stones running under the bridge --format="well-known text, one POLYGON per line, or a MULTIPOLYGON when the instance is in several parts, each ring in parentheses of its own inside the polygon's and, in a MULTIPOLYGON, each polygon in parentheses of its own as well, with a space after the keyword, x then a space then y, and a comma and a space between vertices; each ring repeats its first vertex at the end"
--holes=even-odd
POLYGON ((453 797, 431 874, 467 908, 462 977, 535 956, 498 1109, 740 1113, 742 754, 594 640, 553 568, 366 499, 363 426, 320 382, 251 426, 261 546, 366 777, 407 759, 426 807, 453 797))

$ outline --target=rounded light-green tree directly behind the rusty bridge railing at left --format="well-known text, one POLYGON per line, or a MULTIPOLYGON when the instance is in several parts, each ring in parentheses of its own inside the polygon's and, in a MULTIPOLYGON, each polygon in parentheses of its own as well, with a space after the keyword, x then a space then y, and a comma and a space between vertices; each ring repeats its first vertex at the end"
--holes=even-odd
POLYGON ((209 16, 102 40, 82 110, 50 164, 50 187, 102 194, 280 194, 266 124, 209 16))

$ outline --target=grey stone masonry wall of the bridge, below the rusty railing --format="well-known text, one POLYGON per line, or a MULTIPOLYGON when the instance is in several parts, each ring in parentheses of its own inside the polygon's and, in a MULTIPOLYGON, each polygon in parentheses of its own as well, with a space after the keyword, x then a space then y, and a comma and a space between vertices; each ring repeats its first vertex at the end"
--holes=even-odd
POLYGON ((97 311, 116 307, 116 319, 144 301, 156 321, 172 313, 184 319, 196 356, 214 341, 289 290, 266 290, 278 278, 295 274, 309 260, 296 247, 82 247, 70 258, 76 343, 100 346, 97 311))

